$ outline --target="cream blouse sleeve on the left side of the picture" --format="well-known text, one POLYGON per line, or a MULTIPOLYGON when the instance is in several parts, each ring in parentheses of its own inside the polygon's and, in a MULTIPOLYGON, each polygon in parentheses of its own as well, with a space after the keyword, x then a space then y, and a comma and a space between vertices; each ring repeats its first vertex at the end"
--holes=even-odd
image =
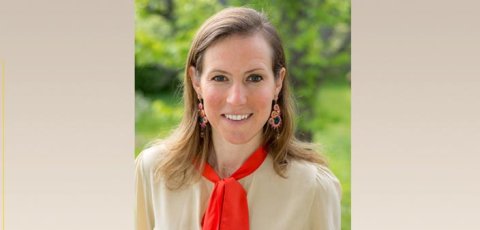
POLYGON ((135 229, 152 230, 154 226, 152 196, 151 196, 151 175, 148 162, 145 160, 145 151, 140 153, 136 159, 135 167, 135 229))

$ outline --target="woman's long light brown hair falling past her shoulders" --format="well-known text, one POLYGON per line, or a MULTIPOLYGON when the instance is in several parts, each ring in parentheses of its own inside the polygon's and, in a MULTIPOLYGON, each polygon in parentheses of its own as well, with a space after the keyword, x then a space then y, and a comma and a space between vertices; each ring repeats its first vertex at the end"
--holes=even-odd
MULTIPOLYGON (((155 169, 158 178, 165 180, 170 189, 198 180, 212 148, 211 127, 207 125, 204 137, 200 137, 198 125, 198 99, 189 76, 189 67, 202 72, 202 59, 205 51, 214 43, 232 35, 250 36, 261 34, 273 50, 272 70, 276 80, 282 68, 287 70, 285 53, 280 37, 267 17, 250 8, 226 8, 210 17, 197 31, 185 65, 183 79, 184 115, 179 126, 162 145, 155 169)), ((316 153, 312 144, 295 138, 295 105, 289 89, 288 71, 285 74, 282 90, 277 103, 282 110, 282 125, 273 130, 267 121, 263 127, 264 145, 273 159, 273 168, 282 177, 286 176, 289 162, 295 159, 326 165, 325 158, 316 153)))

